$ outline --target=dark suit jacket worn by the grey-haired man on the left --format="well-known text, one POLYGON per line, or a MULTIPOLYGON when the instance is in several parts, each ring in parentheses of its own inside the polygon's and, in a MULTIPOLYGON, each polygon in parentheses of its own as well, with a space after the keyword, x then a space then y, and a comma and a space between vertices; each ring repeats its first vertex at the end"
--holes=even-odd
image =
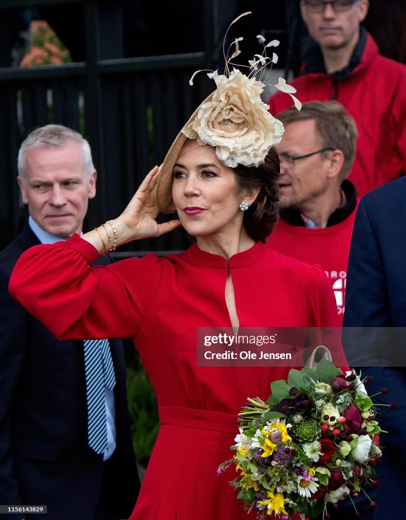
MULTIPOLYGON (((8 293, 17 259, 38 243, 27 224, 0 253, 0 504, 47 505, 46 520, 92 520, 103 471, 112 515, 127 518, 139 479, 123 344, 110 342, 117 380, 117 447, 104 463, 87 445, 83 342, 56 340, 8 293)), ((2 515, 9 518, 20 516, 2 515)))

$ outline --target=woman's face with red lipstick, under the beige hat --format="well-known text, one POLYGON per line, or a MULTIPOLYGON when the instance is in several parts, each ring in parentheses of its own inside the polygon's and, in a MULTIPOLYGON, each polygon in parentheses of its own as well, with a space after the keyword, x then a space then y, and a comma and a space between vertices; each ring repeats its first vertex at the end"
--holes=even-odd
POLYGON ((173 168, 172 197, 182 226, 194 237, 233 236, 243 226, 234 171, 209 145, 187 140, 173 168))

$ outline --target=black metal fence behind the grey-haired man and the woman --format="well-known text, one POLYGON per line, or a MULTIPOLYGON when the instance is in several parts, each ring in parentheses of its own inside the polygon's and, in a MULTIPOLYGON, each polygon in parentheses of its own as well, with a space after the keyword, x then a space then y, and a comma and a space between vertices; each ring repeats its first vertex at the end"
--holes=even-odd
MULTIPOLYGON (((97 196, 90 201, 85 229, 123 210, 151 166, 162 161, 198 102, 213 88, 206 74, 199 74, 193 87, 188 83, 196 70, 213 69, 217 42, 223 36, 213 5, 202 2, 201 19, 195 20, 202 34, 201 50, 123 58, 118 36, 123 28, 120 1, 0 0, 0 17, 15 9, 80 8, 80 19, 71 31, 84 28, 85 56, 85 61, 57 66, 0 68, 0 249, 16 236, 26 218, 16 182, 16 157, 21 141, 38 126, 67 125, 91 144, 98 171, 97 196)), ((227 24, 234 14, 223 12, 227 24)), ((186 234, 176 230, 159 239, 129 244, 120 254, 164 253, 185 249, 188 243, 186 234)))

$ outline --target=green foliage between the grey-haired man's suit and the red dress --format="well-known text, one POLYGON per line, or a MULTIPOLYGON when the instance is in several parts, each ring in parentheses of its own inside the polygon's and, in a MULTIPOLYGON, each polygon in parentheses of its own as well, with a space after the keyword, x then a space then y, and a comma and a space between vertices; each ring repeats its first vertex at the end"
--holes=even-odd
POLYGON ((127 367, 127 394, 130 426, 137 461, 147 466, 159 431, 158 406, 154 389, 141 359, 127 367))

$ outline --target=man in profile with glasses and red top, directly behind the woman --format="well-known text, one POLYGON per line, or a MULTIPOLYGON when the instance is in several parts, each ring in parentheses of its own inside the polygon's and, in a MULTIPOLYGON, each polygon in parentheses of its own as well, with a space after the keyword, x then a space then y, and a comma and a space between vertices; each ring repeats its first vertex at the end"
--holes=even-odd
POLYGON ((326 271, 342 320, 358 203, 354 185, 346 178, 356 153, 356 124, 337 101, 309 101, 300 111, 281 112, 278 119, 285 128, 275 147, 281 161, 281 218, 267 243, 326 271))

